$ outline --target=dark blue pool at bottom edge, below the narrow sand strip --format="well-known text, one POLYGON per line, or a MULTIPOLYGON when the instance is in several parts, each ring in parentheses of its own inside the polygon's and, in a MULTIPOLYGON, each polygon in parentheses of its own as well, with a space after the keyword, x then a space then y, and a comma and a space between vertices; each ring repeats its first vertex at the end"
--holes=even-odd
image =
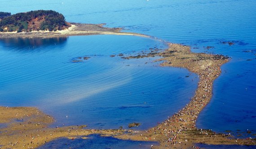
POLYGON ((89 135, 86 139, 60 138, 50 141, 38 149, 145 149, 151 145, 158 145, 157 142, 119 140, 110 136, 89 135))

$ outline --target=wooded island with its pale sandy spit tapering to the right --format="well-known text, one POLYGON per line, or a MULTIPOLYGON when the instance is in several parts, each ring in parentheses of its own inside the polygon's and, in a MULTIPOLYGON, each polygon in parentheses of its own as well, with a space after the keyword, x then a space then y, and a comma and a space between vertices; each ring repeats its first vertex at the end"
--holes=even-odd
POLYGON ((65 17, 53 10, 37 10, 26 13, 0 12, 0 38, 50 38, 93 34, 134 35, 144 34, 121 32, 122 28, 104 27, 102 24, 66 22, 65 17))

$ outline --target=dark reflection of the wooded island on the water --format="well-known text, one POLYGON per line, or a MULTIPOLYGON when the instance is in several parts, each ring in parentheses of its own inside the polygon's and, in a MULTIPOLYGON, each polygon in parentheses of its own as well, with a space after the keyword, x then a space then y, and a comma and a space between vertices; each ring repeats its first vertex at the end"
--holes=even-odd
POLYGON ((11 51, 40 51, 39 47, 65 45, 68 37, 57 38, 0 38, 0 45, 11 51))

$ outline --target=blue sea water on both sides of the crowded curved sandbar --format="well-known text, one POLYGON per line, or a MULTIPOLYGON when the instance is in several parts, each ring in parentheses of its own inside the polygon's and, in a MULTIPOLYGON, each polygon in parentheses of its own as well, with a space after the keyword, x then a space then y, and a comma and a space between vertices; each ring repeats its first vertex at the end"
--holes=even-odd
MULTIPOLYGON (((189 45, 194 52, 228 55, 231 60, 221 67, 197 127, 230 130, 242 137, 250 135, 247 129, 256 133, 255 0, 0 2, 4 12, 53 9, 66 21, 106 23, 189 45), (222 43, 228 41, 234 45, 222 43)), ((0 40, 0 103, 37 106, 55 116, 56 125, 77 121, 92 128, 116 128, 136 121, 141 129, 149 128, 184 106, 198 82, 192 81, 194 74, 185 78, 185 69, 161 68, 150 63, 152 59, 110 58, 153 47, 166 46, 159 40, 112 35, 0 40), (91 58, 72 63, 80 56, 91 58)))

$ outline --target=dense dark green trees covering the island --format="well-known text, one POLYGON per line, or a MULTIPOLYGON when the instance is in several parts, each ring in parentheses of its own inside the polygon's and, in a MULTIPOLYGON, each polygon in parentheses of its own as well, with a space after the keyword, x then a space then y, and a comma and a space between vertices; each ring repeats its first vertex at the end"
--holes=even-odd
POLYGON ((0 32, 22 32, 33 30, 63 30, 70 26, 65 17, 53 10, 36 10, 26 13, 0 12, 0 32))

